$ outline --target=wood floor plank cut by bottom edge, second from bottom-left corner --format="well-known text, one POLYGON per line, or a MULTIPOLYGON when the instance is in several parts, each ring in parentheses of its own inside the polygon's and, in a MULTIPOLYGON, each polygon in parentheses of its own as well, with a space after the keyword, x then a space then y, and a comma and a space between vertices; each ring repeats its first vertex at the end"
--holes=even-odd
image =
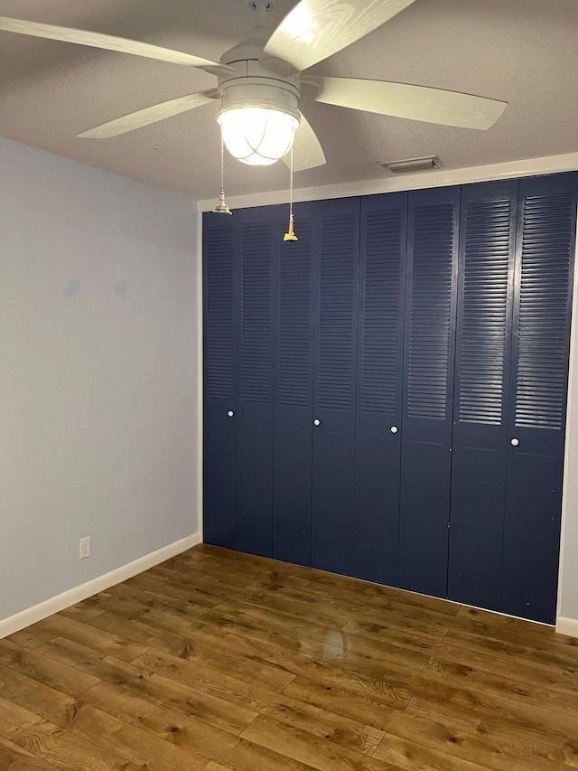
POLYGON ((14 743, 61 771, 137 771, 138 767, 86 737, 44 720, 19 734, 14 743))

